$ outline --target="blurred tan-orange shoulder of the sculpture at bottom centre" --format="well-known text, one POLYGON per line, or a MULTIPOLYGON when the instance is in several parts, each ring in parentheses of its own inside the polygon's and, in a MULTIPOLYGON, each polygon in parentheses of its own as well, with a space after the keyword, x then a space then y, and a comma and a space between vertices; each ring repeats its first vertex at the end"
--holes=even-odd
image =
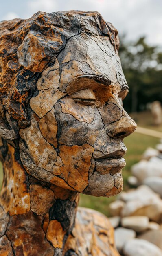
POLYGON ((119 256, 109 219, 92 209, 78 208, 75 227, 67 243, 78 256, 119 256))

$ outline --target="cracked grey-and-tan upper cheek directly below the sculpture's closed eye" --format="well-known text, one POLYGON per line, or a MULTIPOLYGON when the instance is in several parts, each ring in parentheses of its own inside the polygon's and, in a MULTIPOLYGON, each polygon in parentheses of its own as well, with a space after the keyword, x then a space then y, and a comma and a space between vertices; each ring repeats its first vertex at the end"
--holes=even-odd
POLYGON ((81 106, 81 108, 84 109, 83 114, 86 112, 82 118, 80 117, 80 109, 68 108, 63 103, 55 104, 58 124, 57 141, 59 144, 72 146, 88 143, 92 146, 96 141, 98 131, 103 127, 101 115, 95 106, 88 108, 81 106))

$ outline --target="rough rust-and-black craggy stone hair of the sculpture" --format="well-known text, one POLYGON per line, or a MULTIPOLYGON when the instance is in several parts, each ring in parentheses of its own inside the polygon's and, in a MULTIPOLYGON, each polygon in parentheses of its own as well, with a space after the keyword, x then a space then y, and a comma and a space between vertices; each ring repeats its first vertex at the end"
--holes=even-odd
POLYGON ((118 50, 118 32, 98 12, 38 12, 28 20, 0 22, 0 137, 18 138, 30 124, 29 99, 40 73, 81 31, 108 36, 118 50))

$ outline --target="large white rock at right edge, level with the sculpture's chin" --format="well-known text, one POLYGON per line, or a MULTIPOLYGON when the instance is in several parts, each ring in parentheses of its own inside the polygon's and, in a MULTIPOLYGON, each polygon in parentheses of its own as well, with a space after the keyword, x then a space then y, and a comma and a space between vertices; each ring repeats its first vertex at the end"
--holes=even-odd
POLYGON ((131 172, 141 184, 147 177, 162 177, 162 159, 151 157, 149 161, 141 160, 131 167, 131 172))

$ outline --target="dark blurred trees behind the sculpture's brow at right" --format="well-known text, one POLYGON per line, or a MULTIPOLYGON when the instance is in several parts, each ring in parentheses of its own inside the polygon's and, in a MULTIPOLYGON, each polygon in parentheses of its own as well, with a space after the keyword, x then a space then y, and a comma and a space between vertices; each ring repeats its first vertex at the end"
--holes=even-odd
POLYGON ((158 47, 149 46, 144 37, 127 43, 122 36, 119 54, 130 88, 124 101, 127 112, 144 110, 155 100, 162 103, 162 52, 158 47))

